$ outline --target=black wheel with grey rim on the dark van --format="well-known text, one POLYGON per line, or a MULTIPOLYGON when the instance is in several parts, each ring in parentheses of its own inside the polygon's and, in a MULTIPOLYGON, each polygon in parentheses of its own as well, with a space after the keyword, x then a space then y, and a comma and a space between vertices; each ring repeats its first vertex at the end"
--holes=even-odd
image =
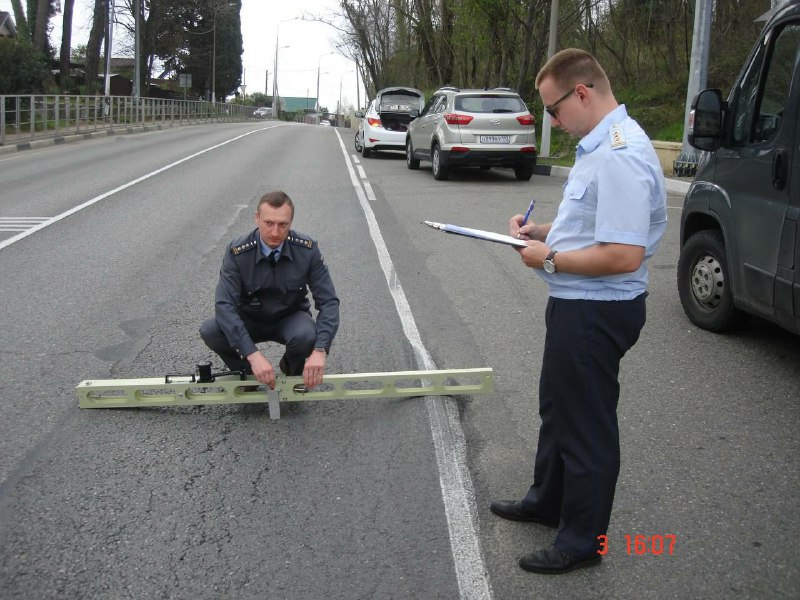
POLYGON ((678 294, 689 320, 709 331, 727 331, 747 315, 733 304, 722 234, 705 230, 688 239, 678 258, 678 294))

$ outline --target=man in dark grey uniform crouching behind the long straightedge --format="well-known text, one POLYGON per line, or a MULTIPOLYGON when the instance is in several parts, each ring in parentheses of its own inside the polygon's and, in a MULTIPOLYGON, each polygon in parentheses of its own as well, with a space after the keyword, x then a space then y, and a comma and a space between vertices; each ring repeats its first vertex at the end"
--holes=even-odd
POLYGON ((258 342, 286 346, 279 366, 302 375, 308 388, 322 383, 339 328, 339 298, 317 243, 291 229, 294 204, 284 192, 265 194, 256 229, 234 240, 222 259, 215 316, 200 327, 206 345, 232 371, 244 370, 270 389, 275 369, 258 342), (308 290, 317 320, 311 317, 308 290))

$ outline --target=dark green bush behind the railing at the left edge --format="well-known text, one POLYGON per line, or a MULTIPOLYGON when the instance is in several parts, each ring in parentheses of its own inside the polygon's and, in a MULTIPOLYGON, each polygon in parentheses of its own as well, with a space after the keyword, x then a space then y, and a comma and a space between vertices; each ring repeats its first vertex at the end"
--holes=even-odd
POLYGON ((51 81, 47 58, 21 38, 0 38, 0 94, 34 94, 51 81))

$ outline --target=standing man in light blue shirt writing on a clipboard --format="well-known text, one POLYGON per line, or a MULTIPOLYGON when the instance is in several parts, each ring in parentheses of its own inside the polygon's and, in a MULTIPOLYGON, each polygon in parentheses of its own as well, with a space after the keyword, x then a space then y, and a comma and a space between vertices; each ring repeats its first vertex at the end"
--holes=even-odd
POLYGON ((511 218, 518 249, 549 288, 533 485, 496 515, 556 527, 555 544, 520 567, 563 573, 598 564, 620 467, 619 364, 645 323, 647 267, 666 228, 664 175, 641 127, 583 50, 553 56, 536 77, 553 124, 579 138, 552 223, 511 218))

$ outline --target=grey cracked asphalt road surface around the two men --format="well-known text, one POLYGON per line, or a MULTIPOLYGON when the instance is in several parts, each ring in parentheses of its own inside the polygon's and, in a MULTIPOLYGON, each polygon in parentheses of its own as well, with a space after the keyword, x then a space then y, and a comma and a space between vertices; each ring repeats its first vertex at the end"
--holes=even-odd
POLYGON ((689 324, 682 198, 623 361, 608 554, 539 576, 516 561, 553 531, 488 507, 530 484, 546 289, 508 247, 421 221, 505 232, 531 196, 549 220, 563 179, 437 182, 374 156, 349 130, 254 123, 0 157, 0 228, 20 230, 0 231, 0 597, 797 597, 800 339, 689 324), (329 372, 489 366, 494 391, 285 403, 279 421, 266 405, 79 409, 81 380, 215 359, 197 329, 222 253, 272 189, 342 301, 329 372))

